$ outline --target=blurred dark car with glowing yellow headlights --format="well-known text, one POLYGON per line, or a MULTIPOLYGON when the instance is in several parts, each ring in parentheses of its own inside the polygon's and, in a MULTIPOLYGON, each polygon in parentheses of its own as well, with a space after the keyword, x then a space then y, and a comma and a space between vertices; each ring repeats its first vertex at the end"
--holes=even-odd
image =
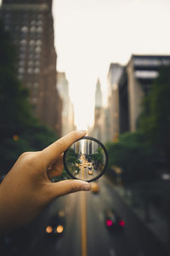
POLYGON ((59 237, 65 230, 65 212, 59 211, 54 214, 49 220, 45 228, 47 236, 59 237))

